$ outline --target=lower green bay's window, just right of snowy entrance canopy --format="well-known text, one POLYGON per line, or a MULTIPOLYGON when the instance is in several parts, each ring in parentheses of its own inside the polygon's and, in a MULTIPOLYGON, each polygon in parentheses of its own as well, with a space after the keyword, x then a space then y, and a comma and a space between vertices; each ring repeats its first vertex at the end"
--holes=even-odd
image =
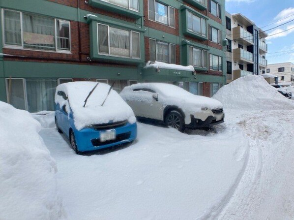
POLYGON ((189 46, 189 65, 207 68, 207 51, 189 46))

